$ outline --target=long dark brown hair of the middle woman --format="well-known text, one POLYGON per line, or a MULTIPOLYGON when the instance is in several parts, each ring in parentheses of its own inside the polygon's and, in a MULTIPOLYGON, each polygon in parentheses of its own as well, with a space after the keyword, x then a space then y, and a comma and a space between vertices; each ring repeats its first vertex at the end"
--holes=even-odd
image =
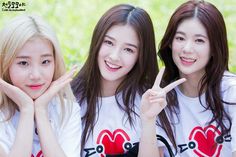
POLYGON ((87 138, 93 132, 95 126, 98 97, 101 96, 101 74, 98 68, 98 52, 107 31, 114 25, 130 25, 136 31, 139 39, 139 56, 128 76, 116 89, 117 93, 122 91, 124 105, 116 101, 121 110, 128 116, 132 125, 131 114, 134 111, 135 95, 140 95, 146 89, 151 88, 158 72, 155 37, 152 21, 148 13, 138 7, 128 4, 116 5, 109 9, 98 21, 92 36, 88 58, 72 81, 73 92, 81 105, 87 103, 87 110, 82 117, 84 130, 82 134, 83 149, 87 138))

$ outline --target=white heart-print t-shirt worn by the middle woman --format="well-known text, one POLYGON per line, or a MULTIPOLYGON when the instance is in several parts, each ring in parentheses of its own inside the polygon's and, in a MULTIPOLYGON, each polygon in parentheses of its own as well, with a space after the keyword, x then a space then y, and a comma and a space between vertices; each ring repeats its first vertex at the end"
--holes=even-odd
MULTIPOLYGON (((137 114, 139 114, 140 99, 140 96, 136 96, 137 114)), ((83 151, 83 156, 86 157, 123 154, 140 140, 140 118, 134 116, 134 127, 131 127, 125 112, 118 107, 115 96, 103 97, 100 100, 100 112, 97 114, 99 116, 94 132, 89 136, 83 151)), ((123 104, 121 99, 119 102, 123 104)), ((84 115, 86 105, 82 106, 81 111, 81 115, 84 115)))

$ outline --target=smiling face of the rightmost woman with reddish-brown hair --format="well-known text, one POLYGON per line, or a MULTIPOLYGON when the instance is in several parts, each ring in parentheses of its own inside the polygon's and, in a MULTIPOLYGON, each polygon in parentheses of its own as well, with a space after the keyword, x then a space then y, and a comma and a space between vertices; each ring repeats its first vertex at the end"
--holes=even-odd
POLYGON ((210 59, 210 43, 205 27, 197 18, 179 24, 171 47, 181 77, 204 75, 210 59))

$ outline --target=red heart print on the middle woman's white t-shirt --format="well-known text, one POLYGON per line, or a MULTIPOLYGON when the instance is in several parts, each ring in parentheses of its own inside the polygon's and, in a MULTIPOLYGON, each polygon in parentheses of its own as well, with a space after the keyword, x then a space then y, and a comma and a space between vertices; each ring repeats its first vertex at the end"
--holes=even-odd
POLYGON ((102 130, 97 138, 96 151, 101 154, 101 157, 115 154, 124 154, 125 148, 131 147, 130 137, 122 130, 117 129, 113 133, 109 130, 102 130))

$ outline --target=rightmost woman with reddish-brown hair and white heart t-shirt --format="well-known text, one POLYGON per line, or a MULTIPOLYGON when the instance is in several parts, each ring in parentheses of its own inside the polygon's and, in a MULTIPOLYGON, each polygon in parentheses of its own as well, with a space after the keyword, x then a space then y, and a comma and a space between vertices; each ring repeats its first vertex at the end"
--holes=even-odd
POLYGON ((167 94, 157 134, 169 139, 177 156, 235 157, 236 77, 228 71, 222 14, 205 1, 183 3, 170 18, 158 54, 165 65, 161 87, 187 81, 167 94))

